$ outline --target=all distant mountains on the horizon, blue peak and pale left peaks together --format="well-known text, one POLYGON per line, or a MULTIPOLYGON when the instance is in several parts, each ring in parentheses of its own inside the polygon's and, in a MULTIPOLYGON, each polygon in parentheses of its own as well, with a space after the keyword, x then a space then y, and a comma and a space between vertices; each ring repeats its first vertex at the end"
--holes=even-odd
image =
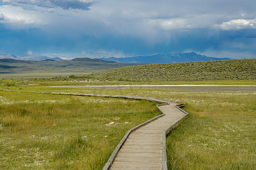
MULTIPOLYGON (((0 59, 19 59, 19 60, 30 60, 30 61, 57 61, 61 60, 59 57, 50 58, 47 56, 31 56, 31 57, 17 57, 14 55, 1 55, 0 59)), ((175 63, 175 62, 195 62, 195 61, 215 61, 224 60, 231 58, 214 58, 202 56, 196 53, 183 53, 183 54, 156 54, 153 56, 137 56, 137 57, 110 57, 110 58, 74 58, 71 61, 90 61, 90 62, 120 62, 120 63, 175 63)))

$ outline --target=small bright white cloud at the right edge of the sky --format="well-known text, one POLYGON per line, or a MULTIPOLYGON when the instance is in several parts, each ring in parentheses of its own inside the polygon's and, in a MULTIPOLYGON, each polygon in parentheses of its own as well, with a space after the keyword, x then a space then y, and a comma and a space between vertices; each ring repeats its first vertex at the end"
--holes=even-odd
POLYGON ((233 19, 228 22, 223 22, 220 25, 217 25, 224 30, 231 29, 245 29, 245 28, 254 28, 256 29, 256 18, 255 19, 233 19))

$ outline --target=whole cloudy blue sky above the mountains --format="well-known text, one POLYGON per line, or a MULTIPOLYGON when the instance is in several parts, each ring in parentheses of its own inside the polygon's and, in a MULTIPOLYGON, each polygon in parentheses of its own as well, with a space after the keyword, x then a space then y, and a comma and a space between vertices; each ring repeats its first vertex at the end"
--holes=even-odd
POLYGON ((0 0, 0 54, 256 58, 255 0, 0 0))

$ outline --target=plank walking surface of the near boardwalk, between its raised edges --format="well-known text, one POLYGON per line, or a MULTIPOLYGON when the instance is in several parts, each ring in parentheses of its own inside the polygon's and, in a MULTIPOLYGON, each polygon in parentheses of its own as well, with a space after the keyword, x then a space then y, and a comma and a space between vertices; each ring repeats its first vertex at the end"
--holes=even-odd
POLYGON ((135 130, 118 152, 112 165, 116 169, 162 169, 163 131, 184 113, 174 107, 174 103, 159 106, 166 116, 135 130))

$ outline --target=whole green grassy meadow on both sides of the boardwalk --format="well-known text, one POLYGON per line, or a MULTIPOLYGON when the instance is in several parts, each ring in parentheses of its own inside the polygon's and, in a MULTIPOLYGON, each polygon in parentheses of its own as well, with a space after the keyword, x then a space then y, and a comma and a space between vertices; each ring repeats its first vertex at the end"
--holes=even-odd
MULTIPOLYGON (((255 85, 255 81, 212 83, 236 82, 255 85)), ((84 85, 85 82, 27 83, 34 85, 1 88, 149 96, 183 102, 183 109, 189 116, 167 136, 168 169, 256 168, 255 91, 190 92, 148 88, 106 90, 51 87, 54 84, 84 85)), ((113 82, 87 82, 90 83, 96 85, 113 82)), ((156 103, 147 101, 0 92, 0 124, 4 125, 0 133, 0 151, 6 155, 0 158, 5 165, 1 169, 15 168, 14 165, 16 168, 19 165, 23 165, 23 168, 26 168, 24 165, 30 165, 31 168, 48 169, 101 169, 128 129, 159 114, 156 103), (114 126, 106 125, 112 121, 117 123, 114 126), (84 135, 88 141, 81 140, 84 135)))

